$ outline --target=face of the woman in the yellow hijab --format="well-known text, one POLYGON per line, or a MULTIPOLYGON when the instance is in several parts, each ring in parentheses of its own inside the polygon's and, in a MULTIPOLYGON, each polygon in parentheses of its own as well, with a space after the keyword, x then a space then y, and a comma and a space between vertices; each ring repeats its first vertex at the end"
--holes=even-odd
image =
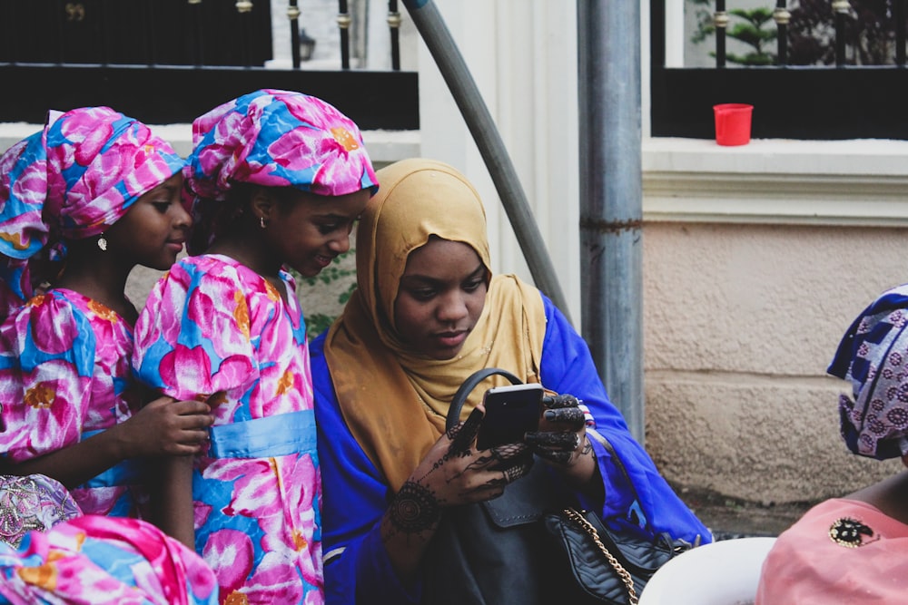
POLYGON ((432 359, 457 356, 486 304, 486 267, 467 244, 431 238, 410 253, 394 301, 401 340, 432 359))

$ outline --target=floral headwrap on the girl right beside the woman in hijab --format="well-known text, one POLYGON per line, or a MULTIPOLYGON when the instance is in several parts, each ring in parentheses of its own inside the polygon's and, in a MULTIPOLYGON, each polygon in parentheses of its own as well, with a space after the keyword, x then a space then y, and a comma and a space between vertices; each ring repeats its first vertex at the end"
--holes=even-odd
MULTIPOLYGON (((233 183, 293 187, 340 196, 378 190, 357 125, 316 97, 262 89, 215 107, 192 122, 192 153, 184 174, 196 235, 211 241, 217 210, 233 183)), ((190 254, 201 250, 189 249, 190 254)))

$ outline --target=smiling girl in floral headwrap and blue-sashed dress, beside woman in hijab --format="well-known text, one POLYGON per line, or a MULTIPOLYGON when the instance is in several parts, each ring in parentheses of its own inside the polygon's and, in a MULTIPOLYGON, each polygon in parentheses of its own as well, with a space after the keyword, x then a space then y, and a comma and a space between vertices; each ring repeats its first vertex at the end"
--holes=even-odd
POLYGON ((349 249, 375 172, 356 125, 301 93, 227 102, 192 139, 187 248, 199 256, 153 288, 133 356, 143 382, 206 399, 215 418, 207 451, 173 459, 165 527, 212 566, 222 602, 321 603, 310 362, 284 267, 313 277, 349 249))

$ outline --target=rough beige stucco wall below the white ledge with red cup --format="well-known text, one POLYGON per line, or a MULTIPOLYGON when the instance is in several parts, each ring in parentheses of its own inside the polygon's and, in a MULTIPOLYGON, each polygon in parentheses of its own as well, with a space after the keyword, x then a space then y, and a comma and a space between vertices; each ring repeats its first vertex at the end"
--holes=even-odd
POLYGON ((813 501, 899 468, 849 454, 852 319, 908 281, 908 229, 647 222, 646 447, 666 476, 757 502, 813 501))

